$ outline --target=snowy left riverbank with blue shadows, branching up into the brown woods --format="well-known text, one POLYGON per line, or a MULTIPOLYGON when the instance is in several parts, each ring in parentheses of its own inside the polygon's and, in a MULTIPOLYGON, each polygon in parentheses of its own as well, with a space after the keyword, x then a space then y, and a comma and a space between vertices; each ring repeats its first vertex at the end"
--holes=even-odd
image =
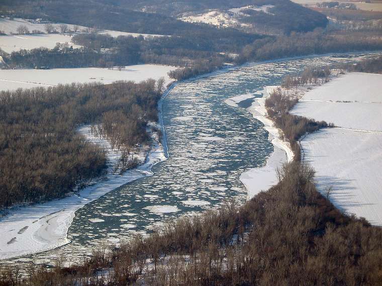
MULTIPOLYGON (((152 175, 151 167, 166 159, 162 145, 153 140, 144 164, 123 175, 115 174, 112 171, 120 158, 119 151, 112 150, 107 140, 91 134, 89 126, 78 131, 107 150, 107 175, 78 195, 12 210, 0 220, 0 259, 42 252, 70 242, 67 231, 76 210, 124 184, 152 175)), ((144 152, 139 156, 144 159, 144 152)))

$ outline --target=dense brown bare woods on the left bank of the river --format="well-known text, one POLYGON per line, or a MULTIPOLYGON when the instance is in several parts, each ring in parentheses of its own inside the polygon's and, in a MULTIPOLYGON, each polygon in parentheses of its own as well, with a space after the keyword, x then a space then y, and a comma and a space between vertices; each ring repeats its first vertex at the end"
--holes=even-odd
POLYGON ((0 208, 59 198, 100 175, 105 151, 77 134, 80 124, 99 126, 126 156, 135 152, 159 97, 154 80, 0 93, 0 208))

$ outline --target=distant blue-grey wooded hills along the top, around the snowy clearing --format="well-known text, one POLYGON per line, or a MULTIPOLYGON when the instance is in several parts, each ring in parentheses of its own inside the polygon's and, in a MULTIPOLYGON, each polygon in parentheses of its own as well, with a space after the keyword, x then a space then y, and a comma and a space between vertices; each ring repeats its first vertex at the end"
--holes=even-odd
MULTIPOLYGON (((290 33, 312 31, 327 25, 326 17, 289 0, 235 0, 235 1, 169 1, 146 0, 96 0, 96 1, 5 1, 0 13, 21 18, 42 18, 87 27, 97 27, 135 33, 179 35, 196 30, 216 30, 210 25, 193 25, 177 20, 184 13, 203 14, 211 10, 229 13, 239 23, 230 25, 247 32, 290 33), (232 9, 254 7, 245 13, 233 13, 232 9), (269 13, 256 9, 271 6, 269 13), (266 29, 265 29, 266 28, 266 29)), ((236 21, 235 20, 235 21, 236 21)))

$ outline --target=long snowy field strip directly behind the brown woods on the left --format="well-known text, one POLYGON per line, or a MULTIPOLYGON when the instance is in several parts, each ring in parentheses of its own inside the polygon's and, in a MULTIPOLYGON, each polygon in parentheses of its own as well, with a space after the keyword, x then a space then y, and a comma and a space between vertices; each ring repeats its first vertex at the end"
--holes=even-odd
POLYGON ((55 86, 72 82, 88 83, 102 82, 105 84, 117 80, 132 80, 140 82, 148 78, 157 80, 164 77, 170 81, 167 73, 176 69, 161 65, 134 65, 124 70, 109 70, 107 68, 74 68, 52 70, 0 70, 0 91, 36 86, 55 86))

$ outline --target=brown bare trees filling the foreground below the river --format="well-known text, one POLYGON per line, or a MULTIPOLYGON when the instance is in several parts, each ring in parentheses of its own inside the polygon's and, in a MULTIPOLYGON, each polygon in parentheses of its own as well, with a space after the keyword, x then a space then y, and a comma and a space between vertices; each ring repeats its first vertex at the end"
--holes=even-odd
MULTIPOLYGON (((382 229, 343 215, 314 170, 293 162, 244 206, 169 222, 147 238, 93 252, 82 265, 12 265, 2 285, 379 285, 382 229)), ((58 263, 58 262, 57 262, 58 263)), ((62 264, 62 263, 61 263, 62 264)), ((57 264, 59 265, 59 263, 57 264)))

